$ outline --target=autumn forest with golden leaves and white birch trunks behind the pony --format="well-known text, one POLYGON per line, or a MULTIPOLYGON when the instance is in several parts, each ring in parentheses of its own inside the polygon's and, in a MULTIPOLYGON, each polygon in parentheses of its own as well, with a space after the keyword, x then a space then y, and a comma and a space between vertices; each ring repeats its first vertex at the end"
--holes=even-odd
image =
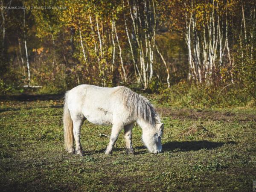
POLYGON ((1 0, 0 92, 124 85, 182 106, 256 105, 255 0, 1 0))

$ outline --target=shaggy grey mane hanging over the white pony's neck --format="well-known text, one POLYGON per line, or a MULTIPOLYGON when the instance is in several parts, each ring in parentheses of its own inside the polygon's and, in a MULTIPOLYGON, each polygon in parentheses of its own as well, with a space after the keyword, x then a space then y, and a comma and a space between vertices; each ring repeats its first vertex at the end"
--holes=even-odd
POLYGON ((135 117, 150 122, 155 122, 157 112, 154 106, 144 96, 135 93, 127 87, 119 86, 116 93, 119 93, 124 101, 125 107, 135 117))

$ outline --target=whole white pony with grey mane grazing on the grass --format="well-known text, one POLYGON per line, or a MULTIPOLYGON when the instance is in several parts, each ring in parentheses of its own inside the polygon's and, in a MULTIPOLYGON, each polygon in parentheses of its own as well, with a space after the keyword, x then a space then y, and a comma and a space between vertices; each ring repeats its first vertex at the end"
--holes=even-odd
POLYGON ((142 139, 148 151, 157 154, 162 150, 163 123, 160 122, 159 115, 145 97, 127 87, 108 88, 82 84, 67 91, 63 124, 65 148, 69 153, 82 155, 80 133, 85 119, 99 125, 112 124, 105 154, 112 154, 113 145, 122 129, 124 129, 126 152, 134 153, 131 142, 134 122, 137 122, 143 130, 142 139))

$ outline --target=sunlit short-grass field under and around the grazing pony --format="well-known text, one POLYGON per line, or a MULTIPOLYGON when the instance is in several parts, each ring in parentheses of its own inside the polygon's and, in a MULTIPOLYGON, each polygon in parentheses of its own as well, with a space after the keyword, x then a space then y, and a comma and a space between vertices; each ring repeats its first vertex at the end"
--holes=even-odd
POLYGON ((2 97, 1 191, 252 191, 256 110, 166 106, 156 105, 163 153, 148 153, 136 126, 134 155, 122 133, 105 155, 108 137, 99 135, 111 128, 85 122, 80 157, 64 151, 62 96, 2 97))

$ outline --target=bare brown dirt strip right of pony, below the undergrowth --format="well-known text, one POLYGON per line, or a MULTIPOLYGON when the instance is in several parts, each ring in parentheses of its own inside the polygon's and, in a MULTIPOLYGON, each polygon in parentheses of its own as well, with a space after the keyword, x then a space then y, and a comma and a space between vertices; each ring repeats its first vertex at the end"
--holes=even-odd
POLYGON ((193 109, 172 109, 172 108, 157 108, 157 112, 161 116, 169 116, 172 119, 202 119, 213 121, 254 121, 256 122, 256 115, 253 114, 236 114, 230 111, 206 111, 206 110, 193 110, 193 109))

